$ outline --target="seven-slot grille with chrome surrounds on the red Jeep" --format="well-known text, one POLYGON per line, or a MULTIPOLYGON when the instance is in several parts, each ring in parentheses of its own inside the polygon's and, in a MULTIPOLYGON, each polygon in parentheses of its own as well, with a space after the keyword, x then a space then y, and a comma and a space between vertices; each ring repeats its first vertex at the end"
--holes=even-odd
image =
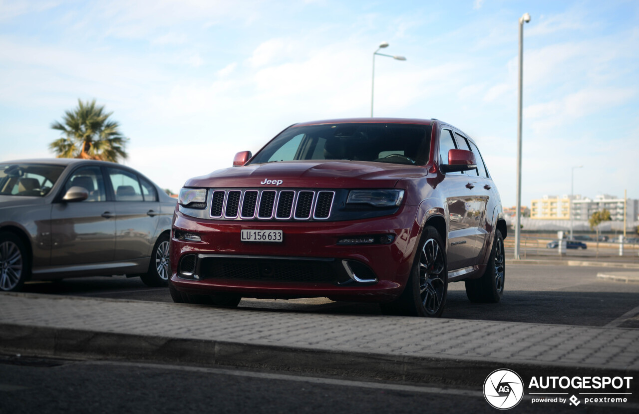
POLYGON ((213 190, 211 218, 233 220, 326 220, 332 190, 213 190))

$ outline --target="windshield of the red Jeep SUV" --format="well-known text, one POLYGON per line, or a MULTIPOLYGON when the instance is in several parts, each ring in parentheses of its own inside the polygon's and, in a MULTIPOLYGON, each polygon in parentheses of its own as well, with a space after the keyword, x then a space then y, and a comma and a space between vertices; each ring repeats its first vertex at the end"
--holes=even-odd
POLYGON ((288 128, 250 164, 295 160, 351 160, 425 165, 429 125, 338 123, 288 128))

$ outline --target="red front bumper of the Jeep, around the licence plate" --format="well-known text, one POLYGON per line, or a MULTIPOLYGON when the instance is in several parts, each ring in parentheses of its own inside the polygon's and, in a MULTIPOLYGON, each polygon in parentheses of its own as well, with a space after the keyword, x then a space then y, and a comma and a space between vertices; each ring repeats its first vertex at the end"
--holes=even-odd
POLYGON ((401 294, 410 274, 419 237, 416 211, 415 206, 404 206, 387 217, 341 222, 202 220, 176 211, 171 284, 192 295, 392 300, 401 294), (242 242, 242 229, 282 230, 284 238, 281 243, 242 242), (178 239, 176 231, 195 233, 201 241, 178 239), (394 241, 337 244, 349 236, 379 234, 393 234, 394 241), (182 259, 189 261, 189 272, 182 259))

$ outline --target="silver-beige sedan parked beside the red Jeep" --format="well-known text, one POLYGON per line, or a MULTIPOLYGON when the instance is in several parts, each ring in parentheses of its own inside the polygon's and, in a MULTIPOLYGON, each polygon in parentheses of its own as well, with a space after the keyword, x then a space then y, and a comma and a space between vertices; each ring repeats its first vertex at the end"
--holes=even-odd
POLYGON ((151 180, 111 162, 0 162, 0 291, 119 274, 166 286, 175 205, 151 180))

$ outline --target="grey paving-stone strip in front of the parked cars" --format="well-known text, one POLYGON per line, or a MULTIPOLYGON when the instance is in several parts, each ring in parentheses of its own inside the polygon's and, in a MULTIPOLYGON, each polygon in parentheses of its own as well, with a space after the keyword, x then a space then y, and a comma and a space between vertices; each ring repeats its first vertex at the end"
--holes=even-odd
POLYGON ((639 330, 627 328, 265 312, 1 293, 0 339, 8 335, 6 326, 16 325, 396 358, 461 358, 639 371, 639 330))

